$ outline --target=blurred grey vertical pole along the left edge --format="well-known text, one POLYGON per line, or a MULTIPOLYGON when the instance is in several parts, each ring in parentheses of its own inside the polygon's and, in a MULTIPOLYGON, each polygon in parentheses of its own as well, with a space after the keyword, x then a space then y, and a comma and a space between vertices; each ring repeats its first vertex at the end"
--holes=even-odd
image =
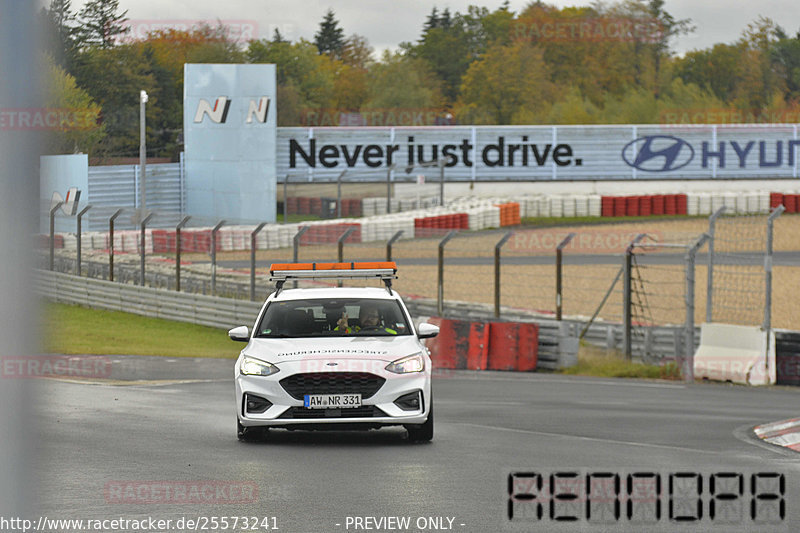
MULTIPOLYGON (((37 2, 0 0, 0 110, 42 107, 35 27, 37 2)), ((39 222, 40 131, 6 118, 0 128, 0 361, 39 353, 25 332, 41 331, 29 273, 39 222)), ((45 191, 49 193, 52 191, 45 191)), ((49 200, 49 196, 47 198, 49 200)), ((45 208, 46 209, 46 208, 45 208)), ((46 211, 45 211, 46 212, 46 211)), ((3 368, 3 367, 0 367, 3 368)), ((26 517, 39 509, 30 470, 36 462, 30 408, 33 380, 0 371, 0 516, 26 517)))

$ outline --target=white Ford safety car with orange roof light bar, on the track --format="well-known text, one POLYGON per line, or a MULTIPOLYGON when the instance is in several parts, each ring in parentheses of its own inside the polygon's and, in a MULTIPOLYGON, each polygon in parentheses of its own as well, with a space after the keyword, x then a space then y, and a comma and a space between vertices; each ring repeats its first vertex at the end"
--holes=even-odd
MULTIPOLYGON (((269 428, 371 429, 402 425, 411 441, 433 438, 431 359, 392 289, 394 262, 288 263, 270 267, 276 290, 236 361, 239 439, 269 428), (373 279, 384 286, 284 288, 289 281, 373 279)), ((338 285, 341 285, 339 283, 338 285)))

